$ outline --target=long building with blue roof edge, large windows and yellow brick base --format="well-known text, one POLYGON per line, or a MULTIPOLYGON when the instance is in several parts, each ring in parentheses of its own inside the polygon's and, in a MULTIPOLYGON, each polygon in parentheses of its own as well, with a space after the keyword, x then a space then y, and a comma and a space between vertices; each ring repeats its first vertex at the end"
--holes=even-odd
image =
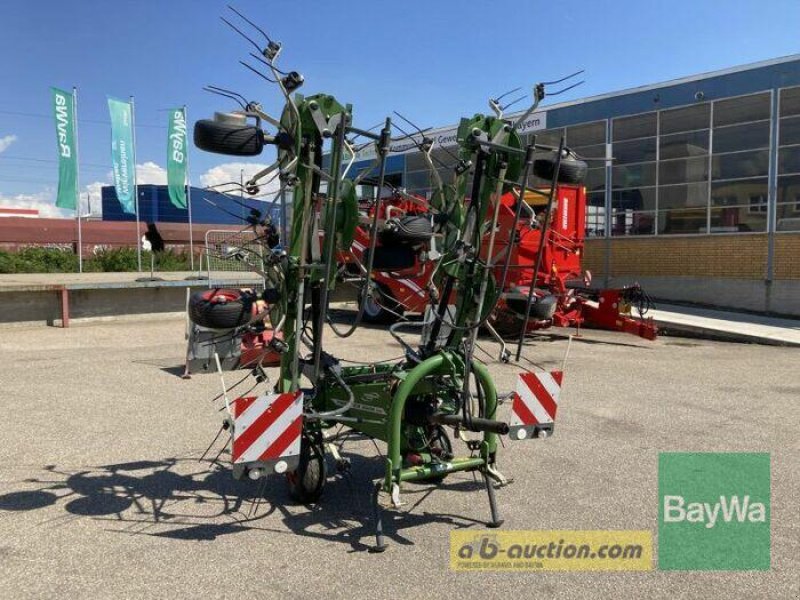
MULTIPOLYGON (((454 162, 455 128, 426 133, 440 165, 454 162)), ((521 132, 552 145, 563 135, 592 159, 584 264, 597 285, 800 315, 800 55, 553 104, 521 132)), ((430 193, 407 140, 387 173, 430 193)))

